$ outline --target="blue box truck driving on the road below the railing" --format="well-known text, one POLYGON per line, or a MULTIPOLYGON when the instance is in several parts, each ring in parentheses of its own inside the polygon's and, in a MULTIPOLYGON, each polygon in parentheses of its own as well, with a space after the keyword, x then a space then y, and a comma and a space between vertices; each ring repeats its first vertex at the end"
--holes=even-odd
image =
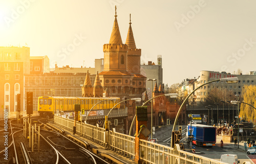
POLYGON ((197 146, 215 146, 216 143, 216 127, 202 125, 202 124, 192 124, 187 125, 186 129, 186 142, 190 142, 190 132, 192 133, 192 143, 197 146), (192 127, 192 128, 191 128, 192 127))

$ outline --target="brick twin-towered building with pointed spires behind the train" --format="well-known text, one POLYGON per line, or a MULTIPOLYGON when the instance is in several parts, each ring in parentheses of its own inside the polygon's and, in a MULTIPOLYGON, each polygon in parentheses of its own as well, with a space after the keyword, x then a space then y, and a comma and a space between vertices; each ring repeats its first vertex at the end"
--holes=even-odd
POLYGON ((146 77, 140 73, 141 49, 136 48, 130 14, 130 26, 123 44, 117 15, 109 44, 103 45, 104 69, 97 73, 94 87, 89 80, 89 72, 82 86, 83 97, 120 97, 122 99, 142 98, 146 90, 146 77))

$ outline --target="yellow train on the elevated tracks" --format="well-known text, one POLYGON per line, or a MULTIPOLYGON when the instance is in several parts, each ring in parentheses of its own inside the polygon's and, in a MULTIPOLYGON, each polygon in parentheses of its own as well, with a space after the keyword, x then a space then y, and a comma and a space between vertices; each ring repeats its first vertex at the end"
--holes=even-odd
MULTIPOLYGON (((38 113, 41 117, 53 116, 56 112, 72 112, 75 104, 80 104, 84 110, 108 110, 119 103, 119 97, 58 97, 41 96, 38 97, 38 113), (100 102, 101 101, 101 102, 100 102)), ((119 108, 120 104, 116 106, 119 108)))

